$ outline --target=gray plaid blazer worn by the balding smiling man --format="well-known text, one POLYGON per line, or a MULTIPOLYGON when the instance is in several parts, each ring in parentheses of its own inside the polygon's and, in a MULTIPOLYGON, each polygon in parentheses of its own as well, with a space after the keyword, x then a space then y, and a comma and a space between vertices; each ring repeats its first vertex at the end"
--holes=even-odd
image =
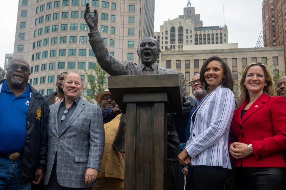
POLYGON ((48 121, 48 166, 44 184, 49 183, 57 152, 57 180, 63 187, 87 188, 84 184, 87 168, 100 170, 104 149, 104 126, 99 106, 82 98, 63 132, 59 135, 57 112, 60 102, 50 106, 48 121))

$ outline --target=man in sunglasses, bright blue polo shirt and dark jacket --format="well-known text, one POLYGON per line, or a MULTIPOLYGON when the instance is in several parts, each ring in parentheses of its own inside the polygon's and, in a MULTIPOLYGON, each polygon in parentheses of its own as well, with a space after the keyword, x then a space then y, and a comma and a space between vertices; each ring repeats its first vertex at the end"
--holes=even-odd
POLYGON ((27 82, 30 66, 14 58, 0 81, 0 189, 29 190, 46 171, 49 106, 27 82))

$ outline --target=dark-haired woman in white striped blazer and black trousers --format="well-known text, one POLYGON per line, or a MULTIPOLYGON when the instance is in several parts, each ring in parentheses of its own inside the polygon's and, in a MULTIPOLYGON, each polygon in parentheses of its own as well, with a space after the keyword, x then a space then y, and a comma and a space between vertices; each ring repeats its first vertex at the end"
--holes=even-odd
POLYGON ((189 118, 191 136, 178 158, 182 164, 192 163, 192 189, 223 189, 231 171, 228 141, 235 109, 233 79, 226 62, 214 56, 204 62, 200 81, 209 94, 189 118))

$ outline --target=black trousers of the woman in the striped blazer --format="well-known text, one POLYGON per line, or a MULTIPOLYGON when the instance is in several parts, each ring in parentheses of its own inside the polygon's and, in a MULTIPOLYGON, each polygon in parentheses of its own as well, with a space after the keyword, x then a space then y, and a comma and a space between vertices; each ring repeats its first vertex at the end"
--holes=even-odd
POLYGON ((189 190, 223 190, 230 171, 221 166, 193 166, 189 190))

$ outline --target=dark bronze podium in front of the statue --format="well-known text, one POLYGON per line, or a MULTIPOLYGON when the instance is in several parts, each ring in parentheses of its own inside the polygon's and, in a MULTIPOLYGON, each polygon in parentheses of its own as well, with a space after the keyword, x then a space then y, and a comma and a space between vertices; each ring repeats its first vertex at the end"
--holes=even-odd
POLYGON ((108 89, 126 113, 124 189, 166 189, 166 118, 182 109, 179 74, 111 76, 108 89))

